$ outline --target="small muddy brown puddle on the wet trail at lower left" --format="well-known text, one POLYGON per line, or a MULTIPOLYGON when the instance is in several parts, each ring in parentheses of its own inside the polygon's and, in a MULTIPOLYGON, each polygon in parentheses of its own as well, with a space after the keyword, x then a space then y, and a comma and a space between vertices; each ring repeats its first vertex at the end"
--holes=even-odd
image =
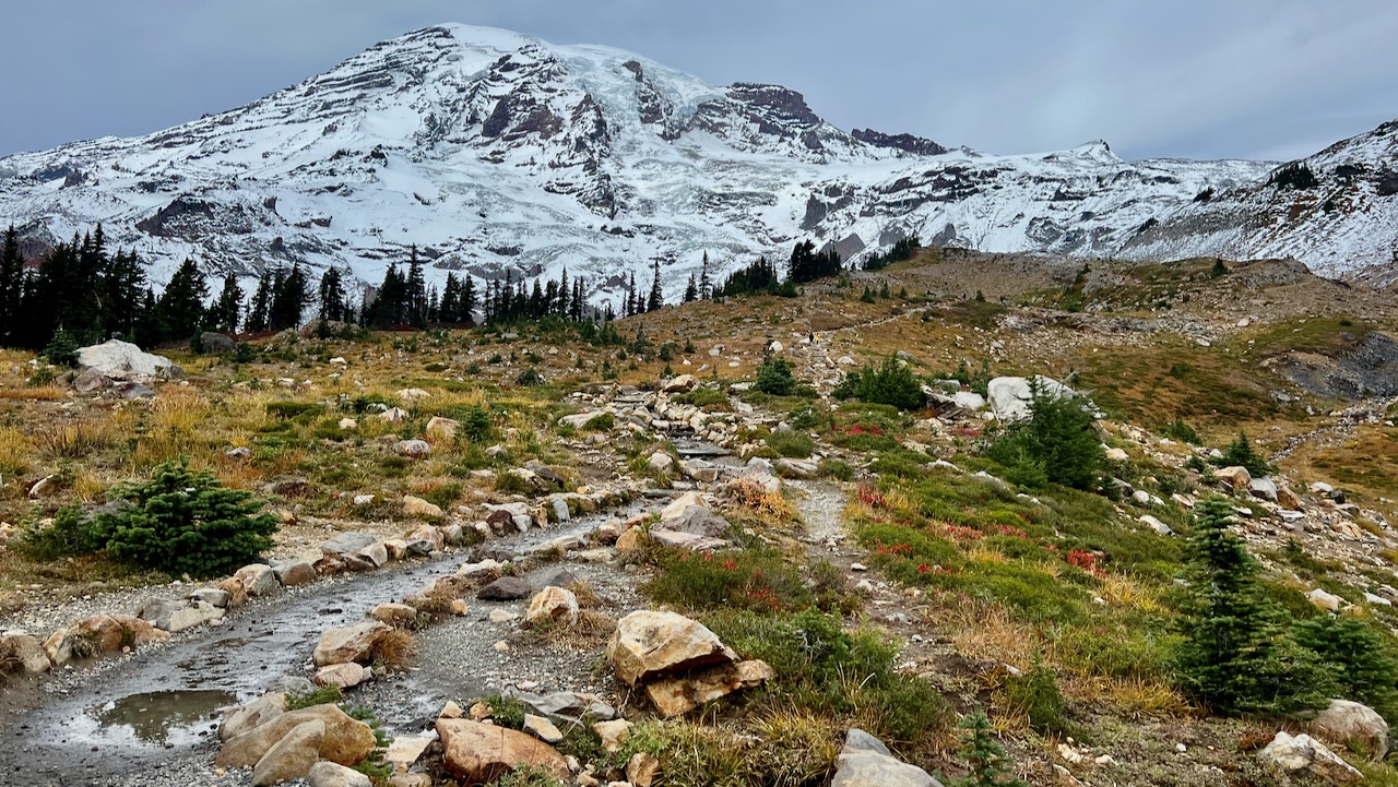
POLYGON ((92 710, 99 737, 127 738, 148 746, 179 746, 210 734, 215 712, 233 705, 229 692, 150 692, 124 696, 92 710))

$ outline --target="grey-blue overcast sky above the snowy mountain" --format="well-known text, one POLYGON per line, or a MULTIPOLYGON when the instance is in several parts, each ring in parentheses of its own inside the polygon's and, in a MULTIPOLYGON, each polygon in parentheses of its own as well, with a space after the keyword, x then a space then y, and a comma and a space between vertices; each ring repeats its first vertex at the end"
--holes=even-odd
POLYGON ((1398 117, 1392 0, 45 0, 3 21, 0 155, 232 109, 446 21, 988 152, 1288 159, 1398 117))

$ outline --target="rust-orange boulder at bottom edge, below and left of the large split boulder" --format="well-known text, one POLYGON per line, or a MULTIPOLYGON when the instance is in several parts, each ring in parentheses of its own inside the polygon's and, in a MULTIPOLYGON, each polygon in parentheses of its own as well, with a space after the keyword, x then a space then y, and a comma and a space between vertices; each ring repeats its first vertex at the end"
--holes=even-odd
POLYGON ((442 765, 466 784, 488 784, 520 766, 542 770, 552 779, 568 779, 568 760, 548 744, 496 724, 467 719, 439 719, 442 765))

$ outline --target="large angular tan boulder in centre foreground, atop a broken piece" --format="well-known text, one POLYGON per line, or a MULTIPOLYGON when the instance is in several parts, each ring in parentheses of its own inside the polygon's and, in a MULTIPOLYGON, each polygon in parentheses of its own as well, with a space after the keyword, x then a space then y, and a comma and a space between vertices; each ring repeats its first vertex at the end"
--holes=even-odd
POLYGON ((653 678, 730 664, 738 657, 699 621, 640 609, 617 623, 607 660, 624 684, 636 688, 653 678))

